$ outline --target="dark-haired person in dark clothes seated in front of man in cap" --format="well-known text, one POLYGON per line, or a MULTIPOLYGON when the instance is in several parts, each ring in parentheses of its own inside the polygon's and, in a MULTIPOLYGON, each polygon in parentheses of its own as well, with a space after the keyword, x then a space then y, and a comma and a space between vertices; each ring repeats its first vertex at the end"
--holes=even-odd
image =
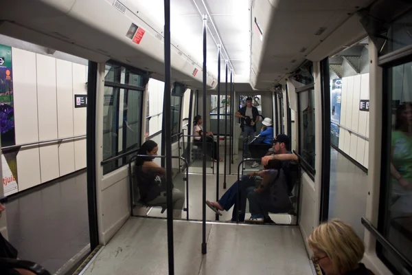
POLYGON ((266 181, 262 181, 260 186, 249 192, 250 223, 263 223, 268 213, 286 213, 292 208, 289 199, 288 184, 282 169, 282 161, 271 160, 271 169, 260 172, 266 181))

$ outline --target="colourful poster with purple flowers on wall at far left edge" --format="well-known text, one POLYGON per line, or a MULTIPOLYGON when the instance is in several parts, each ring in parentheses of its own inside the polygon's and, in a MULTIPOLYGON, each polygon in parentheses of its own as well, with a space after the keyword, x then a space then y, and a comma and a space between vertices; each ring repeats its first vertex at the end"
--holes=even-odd
MULTIPOLYGON (((14 99, 12 79, 12 47, 0 45, 0 131, 1 148, 16 144, 14 133, 14 99)), ((18 191, 16 156, 18 151, 2 150, 4 195, 18 191)))

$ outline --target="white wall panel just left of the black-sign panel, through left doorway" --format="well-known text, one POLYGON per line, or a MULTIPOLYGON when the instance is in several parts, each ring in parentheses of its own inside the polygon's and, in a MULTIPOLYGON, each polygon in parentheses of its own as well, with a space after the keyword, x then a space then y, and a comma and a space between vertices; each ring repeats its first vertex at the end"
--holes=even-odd
MULTIPOLYGON (((73 66, 69 61, 56 59, 58 137, 72 137, 73 130, 73 66)), ((58 146, 60 177, 73 173, 74 141, 64 140, 58 146)))

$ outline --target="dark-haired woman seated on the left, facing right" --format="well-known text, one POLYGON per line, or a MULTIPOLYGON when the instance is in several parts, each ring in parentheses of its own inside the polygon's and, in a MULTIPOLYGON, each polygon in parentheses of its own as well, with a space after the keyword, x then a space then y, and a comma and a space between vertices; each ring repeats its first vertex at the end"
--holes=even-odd
MULTIPOLYGON (((148 155, 148 157, 137 157, 135 167, 135 177, 139 187, 140 201, 148 206, 159 206, 166 203, 166 170, 153 162, 159 147, 152 140, 147 140, 139 148, 138 155, 148 155)), ((173 219, 181 219, 185 196, 179 189, 173 188, 173 219)))

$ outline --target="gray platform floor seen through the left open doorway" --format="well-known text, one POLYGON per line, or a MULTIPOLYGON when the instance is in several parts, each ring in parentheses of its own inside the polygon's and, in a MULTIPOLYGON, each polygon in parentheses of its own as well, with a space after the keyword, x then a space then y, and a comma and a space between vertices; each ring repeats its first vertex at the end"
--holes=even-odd
POLYGON ((52 274, 89 244, 86 173, 7 203, 9 241, 19 258, 52 274))

